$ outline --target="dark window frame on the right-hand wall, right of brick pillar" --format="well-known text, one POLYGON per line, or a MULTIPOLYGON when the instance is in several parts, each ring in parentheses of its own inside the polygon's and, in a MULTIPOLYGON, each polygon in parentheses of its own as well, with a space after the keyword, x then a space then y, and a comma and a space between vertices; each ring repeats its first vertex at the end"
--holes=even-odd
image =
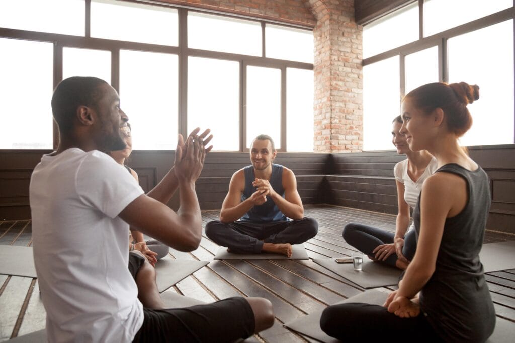
MULTIPOLYGON (((473 20, 471 22, 458 25, 456 27, 435 33, 433 35, 430 35, 428 37, 424 37, 424 0, 415 0, 418 2, 419 6, 419 39, 415 42, 411 42, 393 49, 390 49, 388 51, 384 51, 381 53, 378 53, 377 55, 371 56, 369 58, 366 58, 363 60, 363 66, 373 64, 375 62, 379 62, 382 60, 385 60, 387 58, 393 57, 393 56, 399 56, 399 67, 400 67, 400 94, 401 99, 406 95, 405 94, 405 58, 406 55, 409 55, 410 53, 418 52, 421 50, 424 50, 426 48, 430 48, 432 46, 438 46, 438 82, 448 82, 449 80, 449 73, 448 73, 448 51, 447 51, 447 42, 449 39, 456 37, 461 34, 469 33, 478 29, 482 29, 494 24, 499 24, 501 22, 507 21, 507 20, 513 20, 513 32, 515 37, 515 7, 506 8, 504 10, 501 10, 499 12, 495 12, 489 15, 486 15, 484 17, 481 17, 479 19, 473 20)), ((515 2, 515 1, 514 1, 515 2)), ((413 4, 414 1, 406 2, 402 5, 408 6, 410 4, 413 4)), ((402 8, 401 7, 401 8, 402 8)), ((394 10, 398 10, 399 7, 394 8, 394 10)), ((390 14, 392 11, 389 11, 387 13, 383 13, 381 16, 390 14)), ((374 20, 380 19, 381 17, 377 17, 374 20)), ((373 21, 368 21, 366 24, 372 23, 373 21)), ((366 25, 365 24, 365 25, 366 25)), ((515 79, 515 75, 514 75, 515 79)), ((515 97, 514 97, 514 105, 515 105, 515 97)), ((400 99, 399 99, 399 106, 400 106, 400 99)), ((513 116, 515 117, 515 113, 513 113, 513 116)), ((514 128, 514 137, 513 140, 515 141, 515 128, 514 128)), ((508 145, 495 145, 496 147, 501 146, 514 146, 515 143, 511 143, 508 145)))

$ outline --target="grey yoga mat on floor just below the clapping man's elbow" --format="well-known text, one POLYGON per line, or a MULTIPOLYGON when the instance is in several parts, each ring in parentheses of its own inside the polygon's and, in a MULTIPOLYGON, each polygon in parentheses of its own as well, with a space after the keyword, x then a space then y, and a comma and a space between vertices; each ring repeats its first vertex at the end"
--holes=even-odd
POLYGON ((159 293, 163 293, 208 263, 197 260, 174 260, 170 255, 163 257, 156 263, 156 283, 159 293))

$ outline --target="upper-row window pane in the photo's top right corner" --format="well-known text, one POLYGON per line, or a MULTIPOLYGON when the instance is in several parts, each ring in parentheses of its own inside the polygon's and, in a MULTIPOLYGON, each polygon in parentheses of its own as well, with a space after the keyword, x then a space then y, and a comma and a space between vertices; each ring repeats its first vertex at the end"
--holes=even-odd
POLYGON ((513 0, 424 0, 424 36, 513 6, 513 0))

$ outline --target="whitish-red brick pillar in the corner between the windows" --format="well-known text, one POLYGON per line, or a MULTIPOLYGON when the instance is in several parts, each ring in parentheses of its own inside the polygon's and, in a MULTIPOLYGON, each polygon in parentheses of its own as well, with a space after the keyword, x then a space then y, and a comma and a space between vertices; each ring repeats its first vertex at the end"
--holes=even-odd
POLYGON ((353 0, 308 0, 315 38, 315 151, 363 149, 362 26, 353 0))

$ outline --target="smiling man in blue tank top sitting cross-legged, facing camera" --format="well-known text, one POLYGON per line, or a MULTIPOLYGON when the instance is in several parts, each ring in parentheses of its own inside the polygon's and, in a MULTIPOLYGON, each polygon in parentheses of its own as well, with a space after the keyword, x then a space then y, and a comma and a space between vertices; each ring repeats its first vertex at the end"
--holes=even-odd
POLYGON ((205 225, 205 234, 213 242, 236 253, 275 252, 290 257, 291 244, 317 234, 318 223, 304 218, 293 171, 274 164, 276 155, 272 137, 254 138, 252 165, 232 175, 220 221, 205 225))

